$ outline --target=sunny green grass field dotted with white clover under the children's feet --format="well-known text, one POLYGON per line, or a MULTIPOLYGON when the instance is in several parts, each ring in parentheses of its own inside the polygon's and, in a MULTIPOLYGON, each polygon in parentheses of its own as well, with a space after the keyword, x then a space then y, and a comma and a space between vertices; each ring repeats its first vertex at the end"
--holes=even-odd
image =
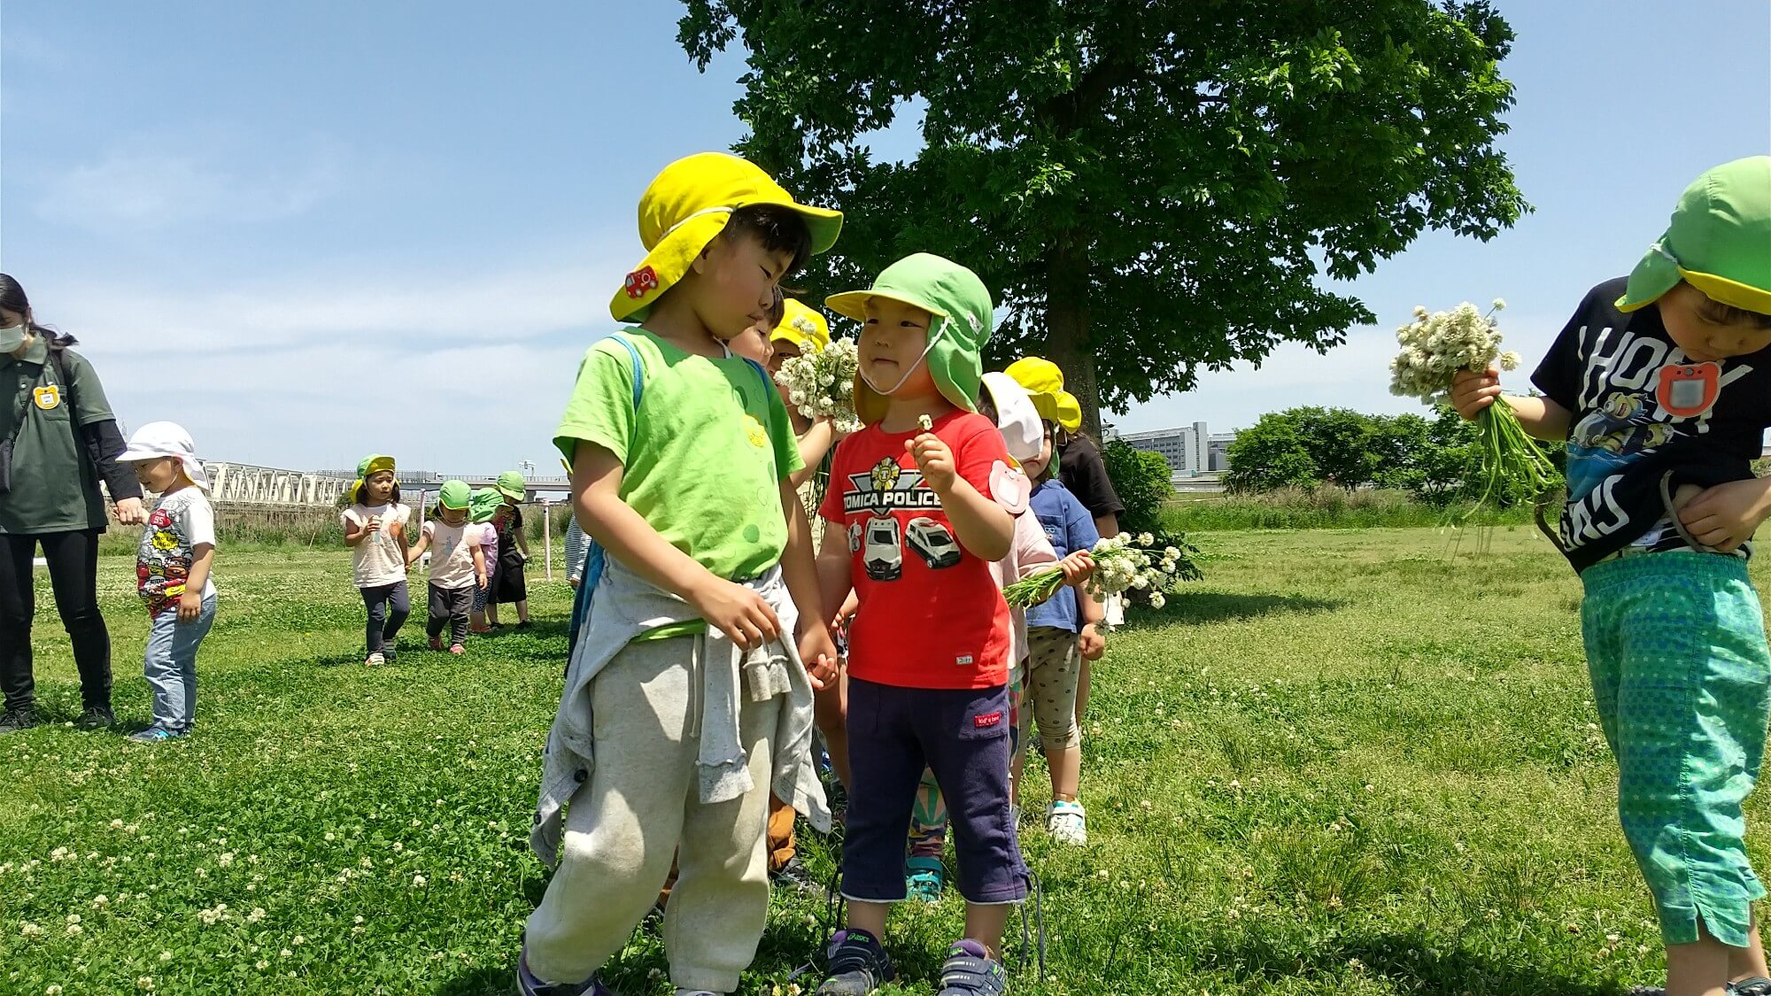
MULTIPOLYGON (((1017 992, 1599 996, 1658 977, 1578 585, 1532 528, 1482 558, 1436 530, 1195 539, 1208 580, 1096 670, 1093 844, 1024 828, 1050 946, 1017 992)), ((117 709, 145 723, 131 565, 101 572, 117 709)), ((545 881, 526 833, 567 588, 533 585, 531 633, 464 659, 409 636, 367 670, 345 553, 223 551, 218 572, 197 735, 0 739, 0 992, 508 992, 545 881)), ((39 688, 69 720, 41 604, 39 688)), ((777 897, 744 991, 788 992, 822 916, 777 897)), ((901 992, 933 992, 960 916, 953 895, 896 914, 901 992)), ((613 984, 668 992, 662 966, 641 929, 613 984)))

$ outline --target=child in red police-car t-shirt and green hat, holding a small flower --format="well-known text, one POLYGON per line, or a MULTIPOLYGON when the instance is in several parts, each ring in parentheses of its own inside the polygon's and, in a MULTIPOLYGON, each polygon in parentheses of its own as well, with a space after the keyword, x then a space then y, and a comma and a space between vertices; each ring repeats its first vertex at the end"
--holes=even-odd
POLYGON ((882 946, 907 899, 905 831, 924 764, 947 801, 967 900, 942 992, 1006 991, 999 945, 1027 872, 1009 815, 1009 611, 990 574, 1008 556, 1017 491, 995 424, 978 415, 992 301, 971 269, 901 259, 873 287, 832 296, 862 323, 855 413, 824 500, 825 604, 854 590, 848 636, 848 925, 822 994, 862 996, 894 977, 882 946))

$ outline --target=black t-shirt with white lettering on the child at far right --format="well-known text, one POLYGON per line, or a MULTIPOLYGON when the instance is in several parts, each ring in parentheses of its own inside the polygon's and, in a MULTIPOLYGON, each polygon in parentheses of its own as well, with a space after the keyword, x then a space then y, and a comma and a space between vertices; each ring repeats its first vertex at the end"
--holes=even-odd
POLYGON ((1560 533, 1576 571, 1663 523, 1649 542, 1686 546, 1670 526, 1661 479, 1668 491, 1750 479, 1771 425, 1771 347, 1691 363, 1658 305, 1617 310, 1624 284, 1619 276, 1589 291, 1532 374, 1537 390, 1573 413, 1560 533))

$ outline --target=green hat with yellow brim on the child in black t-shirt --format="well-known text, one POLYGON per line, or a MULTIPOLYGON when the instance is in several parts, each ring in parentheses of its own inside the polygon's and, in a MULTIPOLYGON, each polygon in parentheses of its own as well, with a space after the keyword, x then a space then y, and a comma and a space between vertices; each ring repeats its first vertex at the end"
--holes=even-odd
POLYGON ((1617 310, 1647 307, 1679 280, 1713 301, 1771 315, 1771 156, 1721 163, 1684 188, 1617 310))

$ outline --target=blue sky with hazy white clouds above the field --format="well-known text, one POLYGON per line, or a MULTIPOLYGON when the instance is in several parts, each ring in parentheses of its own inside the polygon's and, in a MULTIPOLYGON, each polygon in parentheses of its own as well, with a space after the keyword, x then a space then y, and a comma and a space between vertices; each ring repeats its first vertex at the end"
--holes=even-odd
MULTIPOLYGON (((1502 147, 1537 211, 1381 264, 1353 285, 1380 324, 1326 356, 1206 372, 1121 427, 1406 411, 1385 363, 1413 305, 1507 298, 1509 344, 1541 353, 1691 177, 1771 151, 1762 0, 1498 5, 1520 32, 1502 147)), ((85 340, 126 422, 181 420, 205 457, 553 466, 577 358, 639 255, 639 190, 742 135, 742 62, 698 74, 680 11, 7 0, 0 268, 85 340)))

